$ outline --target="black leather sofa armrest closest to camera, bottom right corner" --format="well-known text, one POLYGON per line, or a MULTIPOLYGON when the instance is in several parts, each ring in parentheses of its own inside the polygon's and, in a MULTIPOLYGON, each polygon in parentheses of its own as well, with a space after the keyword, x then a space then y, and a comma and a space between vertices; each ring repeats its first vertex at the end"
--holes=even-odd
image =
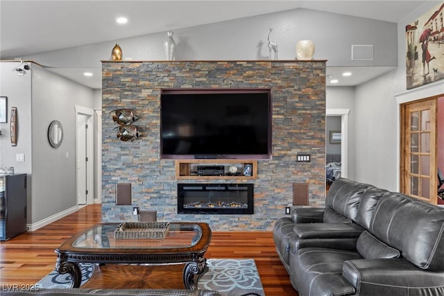
POLYGON ((362 296, 444 293, 444 272, 422 270, 406 259, 345 261, 342 276, 355 286, 356 294, 362 296))

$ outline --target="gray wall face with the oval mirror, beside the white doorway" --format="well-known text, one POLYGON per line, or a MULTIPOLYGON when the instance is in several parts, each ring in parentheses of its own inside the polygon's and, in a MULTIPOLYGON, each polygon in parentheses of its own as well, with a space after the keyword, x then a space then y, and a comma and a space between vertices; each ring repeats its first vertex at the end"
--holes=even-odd
POLYGON ((77 206, 75 105, 94 107, 94 90, 34 65, 32 80, 33 186, 32 219, 37 223, 77 206), (63 127, 63 141, 52 148, 51 121, 63 127))

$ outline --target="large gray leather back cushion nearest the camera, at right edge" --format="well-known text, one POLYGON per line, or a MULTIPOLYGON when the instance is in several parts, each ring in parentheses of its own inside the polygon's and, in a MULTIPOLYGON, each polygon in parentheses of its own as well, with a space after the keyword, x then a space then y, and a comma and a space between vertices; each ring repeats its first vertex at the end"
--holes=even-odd
POLYGON ((401 193, 384 194, 370 232, 423 270, 444 271, 444 209, 401 193))

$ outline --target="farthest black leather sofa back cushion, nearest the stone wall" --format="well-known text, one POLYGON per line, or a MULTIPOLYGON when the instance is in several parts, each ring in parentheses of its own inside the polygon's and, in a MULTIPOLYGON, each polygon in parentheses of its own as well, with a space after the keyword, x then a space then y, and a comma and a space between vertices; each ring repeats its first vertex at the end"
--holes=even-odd
POLYGON ((361 195, 370 186, 347 178, 339 178, 328 190, 325 207, 330 207, 336 213, 355 221, 361 195))

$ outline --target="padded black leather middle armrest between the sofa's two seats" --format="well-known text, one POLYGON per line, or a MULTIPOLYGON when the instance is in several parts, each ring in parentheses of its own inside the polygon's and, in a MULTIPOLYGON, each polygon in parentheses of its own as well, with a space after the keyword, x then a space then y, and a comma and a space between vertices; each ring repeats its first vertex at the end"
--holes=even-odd
POLYGON ((355 223, 296 224, 293 231, 299 238, 357 238, 364 228, 355 223))

